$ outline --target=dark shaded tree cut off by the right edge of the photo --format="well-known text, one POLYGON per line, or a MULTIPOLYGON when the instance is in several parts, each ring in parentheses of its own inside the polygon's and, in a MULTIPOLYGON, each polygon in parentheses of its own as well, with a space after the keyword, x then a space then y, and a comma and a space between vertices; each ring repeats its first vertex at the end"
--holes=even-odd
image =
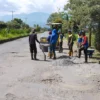
POLYGON ((96 24, 95 46, 100 51, 100 1, 90 0, 89 6, 91 8, 90 17, 94 24, 96 24))

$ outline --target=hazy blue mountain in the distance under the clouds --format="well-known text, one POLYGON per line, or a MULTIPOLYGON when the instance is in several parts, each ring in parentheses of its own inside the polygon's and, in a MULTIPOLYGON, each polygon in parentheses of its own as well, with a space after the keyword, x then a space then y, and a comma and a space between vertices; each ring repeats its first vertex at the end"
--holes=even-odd
MULTIPOLYGON (((39 24, 41 27, 46 27, 47 19, 50 14, 43 12, 34 12, 30 14, 13 14, 13 18, 20 18, 25 23, 33 27, 34 24, 39 24)), ((0 21, 10 21, 12 20, 12 15, 0 16, 0 21)))

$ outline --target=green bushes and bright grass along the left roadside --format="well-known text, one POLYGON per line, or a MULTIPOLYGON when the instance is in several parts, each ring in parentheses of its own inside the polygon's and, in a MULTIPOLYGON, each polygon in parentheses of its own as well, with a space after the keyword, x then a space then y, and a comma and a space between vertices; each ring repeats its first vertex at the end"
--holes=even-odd
POLYGON ((0 21, 0 41, 27 36, 29 32, 29 25, 25 24, 21 19, 15 18, 6 23, 0 21))

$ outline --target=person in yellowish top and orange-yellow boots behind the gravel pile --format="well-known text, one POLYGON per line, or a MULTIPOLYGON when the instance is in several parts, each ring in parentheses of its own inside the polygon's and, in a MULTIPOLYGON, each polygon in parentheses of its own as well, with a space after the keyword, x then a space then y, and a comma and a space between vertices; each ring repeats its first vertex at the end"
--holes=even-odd
POLYGON ((68 47, 69 47, 69 57, 70 57, 70 56, 73 56, 73 44, 74 44, 74 41, 73 41, 73 35, 72 35, 71 30, 68 31, 68 33, 69 33, 69 36, 68 36, 68 47))

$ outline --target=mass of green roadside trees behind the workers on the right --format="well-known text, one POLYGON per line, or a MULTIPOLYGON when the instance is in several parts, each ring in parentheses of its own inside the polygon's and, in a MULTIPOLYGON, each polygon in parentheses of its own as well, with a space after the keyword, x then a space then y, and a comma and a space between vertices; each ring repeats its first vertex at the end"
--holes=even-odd
MULTIPOLYGON (((99 0, 68 0, 64 11, 52 13, 47 22, 61 22, 62 32, 67 34, 71 29, 77 34, 85 30, 89 46, 100 52, 100 2, 99 0)), ((77 37, 77 36, 76 36, 77 37)))

